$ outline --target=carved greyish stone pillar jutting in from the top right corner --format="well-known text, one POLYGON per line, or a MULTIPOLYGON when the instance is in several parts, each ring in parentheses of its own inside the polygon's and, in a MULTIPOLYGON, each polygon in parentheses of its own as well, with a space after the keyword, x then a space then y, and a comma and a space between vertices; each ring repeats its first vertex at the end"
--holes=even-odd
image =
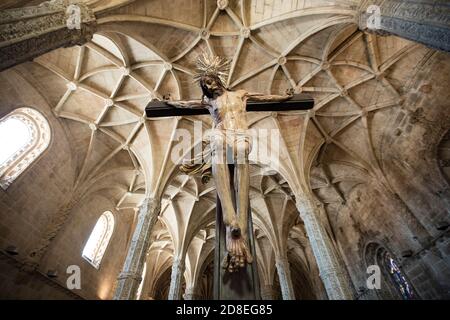
POLYGON ((450 6, 447 1, 370 0, 363 1, 359 12, 357 19, 361 30, 392 34, 450 51, 450 6))

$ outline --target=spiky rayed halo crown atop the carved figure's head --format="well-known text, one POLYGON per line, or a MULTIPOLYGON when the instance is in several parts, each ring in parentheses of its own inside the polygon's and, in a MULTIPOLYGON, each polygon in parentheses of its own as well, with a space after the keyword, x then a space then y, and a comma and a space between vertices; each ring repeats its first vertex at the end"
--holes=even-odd
POLYGON ((197 59, 197 68, 194 81, 200 82, 205 76, 216 76, 225 84, 230 70, 230 61, 219 56, 210 56, 203 53, 197 59))

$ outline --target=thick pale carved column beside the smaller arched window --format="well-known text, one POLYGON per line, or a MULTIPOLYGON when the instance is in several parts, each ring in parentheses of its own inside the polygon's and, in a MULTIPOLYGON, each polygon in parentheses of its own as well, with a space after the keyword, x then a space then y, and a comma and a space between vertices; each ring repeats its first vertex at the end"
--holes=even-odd
POLYGON ((146 198, 139 208, 138 221, 134 229, 123 271, 117 279, 114 300, 134 300, 142 281, 142 270, 150 246, 150 234, 158 220, 160 200, 146 198))

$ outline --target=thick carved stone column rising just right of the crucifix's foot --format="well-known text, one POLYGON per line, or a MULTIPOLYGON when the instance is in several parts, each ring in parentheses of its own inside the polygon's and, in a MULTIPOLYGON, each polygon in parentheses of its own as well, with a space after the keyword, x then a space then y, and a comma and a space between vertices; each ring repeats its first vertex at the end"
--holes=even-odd
POLYGON ((320 277, 330 300, 352 300, 353 294, 337 252, 319 219, 317 206, 306 197, 297 197, 297 209, 319 267, 320 277))

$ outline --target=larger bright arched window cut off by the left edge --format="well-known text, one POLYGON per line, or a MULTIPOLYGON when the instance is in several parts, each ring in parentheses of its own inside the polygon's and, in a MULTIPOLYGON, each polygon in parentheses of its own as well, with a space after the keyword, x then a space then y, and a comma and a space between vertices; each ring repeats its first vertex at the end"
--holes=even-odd
POLYGON ((31 108, 18 108, 0 119, 0 186, 11 183, 48 147, 50 126, 31 108))

